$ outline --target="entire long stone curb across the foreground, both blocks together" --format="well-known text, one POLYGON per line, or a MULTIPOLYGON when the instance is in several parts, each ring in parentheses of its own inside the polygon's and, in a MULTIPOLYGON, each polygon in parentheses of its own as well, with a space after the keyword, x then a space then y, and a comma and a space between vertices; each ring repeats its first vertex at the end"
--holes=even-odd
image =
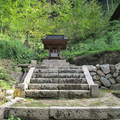
POLYGON ((4 118, 11 114, 21 120, 120 119, 120 107, 5 107, 4 118))

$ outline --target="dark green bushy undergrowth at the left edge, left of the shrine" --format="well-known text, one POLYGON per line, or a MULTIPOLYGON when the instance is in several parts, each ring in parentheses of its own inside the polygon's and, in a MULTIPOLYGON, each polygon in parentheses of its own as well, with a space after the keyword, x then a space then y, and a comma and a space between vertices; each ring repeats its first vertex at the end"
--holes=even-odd
POLYGON ((32 48, 27 48, 21 41, 4 37, 0 39, 0 57, 29 63, 31 59, 36 59, 36 54, 32 48))

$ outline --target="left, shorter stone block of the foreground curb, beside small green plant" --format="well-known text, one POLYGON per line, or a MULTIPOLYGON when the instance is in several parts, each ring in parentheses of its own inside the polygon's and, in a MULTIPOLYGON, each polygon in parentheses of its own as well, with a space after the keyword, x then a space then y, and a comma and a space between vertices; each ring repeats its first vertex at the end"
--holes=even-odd
POLYGON ((10 115, 19 117, 21 120, 49 120, 49 107, 29 108, 29 107, 6 107, 4 118, 10 118, 10 115))

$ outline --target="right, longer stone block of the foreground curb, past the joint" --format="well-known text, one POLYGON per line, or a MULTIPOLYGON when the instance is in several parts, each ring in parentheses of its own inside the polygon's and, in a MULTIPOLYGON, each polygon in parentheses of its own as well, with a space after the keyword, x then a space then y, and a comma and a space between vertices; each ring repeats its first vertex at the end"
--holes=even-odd
POLYGON ((120 107, 50 107, 55 120, 120 119, 120 107))

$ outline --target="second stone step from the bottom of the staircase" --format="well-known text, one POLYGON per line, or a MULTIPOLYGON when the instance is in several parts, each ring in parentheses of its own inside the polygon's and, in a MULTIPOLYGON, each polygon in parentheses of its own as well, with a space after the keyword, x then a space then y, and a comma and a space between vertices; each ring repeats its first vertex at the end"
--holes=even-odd
POLYGON ((88 90, 88 84, 29 84, 28 89, 33 90, 88 90))

